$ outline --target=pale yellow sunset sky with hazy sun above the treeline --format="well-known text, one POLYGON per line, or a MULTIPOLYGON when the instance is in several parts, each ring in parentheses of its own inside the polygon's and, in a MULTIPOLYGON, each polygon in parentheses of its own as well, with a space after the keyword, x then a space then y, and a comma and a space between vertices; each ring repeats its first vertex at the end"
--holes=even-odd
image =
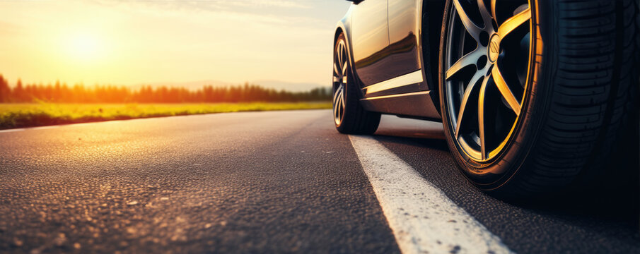
POLYGON ((10 83, 329 85, 344 0, 0 1, 10 83))

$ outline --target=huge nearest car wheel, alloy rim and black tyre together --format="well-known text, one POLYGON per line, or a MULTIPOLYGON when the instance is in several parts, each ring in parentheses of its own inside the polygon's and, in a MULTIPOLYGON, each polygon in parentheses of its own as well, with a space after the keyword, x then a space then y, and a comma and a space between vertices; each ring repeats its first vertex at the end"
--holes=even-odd
POLYGON ((638 1, 453 0, 440 101, 453 157, 484 191, 593 182, 638 91, 638 1))

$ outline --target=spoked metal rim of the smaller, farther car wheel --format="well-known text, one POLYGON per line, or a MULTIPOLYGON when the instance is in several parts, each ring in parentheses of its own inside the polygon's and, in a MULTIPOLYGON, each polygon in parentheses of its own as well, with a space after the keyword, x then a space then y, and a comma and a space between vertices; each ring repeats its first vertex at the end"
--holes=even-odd
POLYGON ((344 118, 344 90, 348 80, 347 45, 344 40, 339 40, 336 45, 333 59, 333 117, 336 126, 339 126, 344 118))

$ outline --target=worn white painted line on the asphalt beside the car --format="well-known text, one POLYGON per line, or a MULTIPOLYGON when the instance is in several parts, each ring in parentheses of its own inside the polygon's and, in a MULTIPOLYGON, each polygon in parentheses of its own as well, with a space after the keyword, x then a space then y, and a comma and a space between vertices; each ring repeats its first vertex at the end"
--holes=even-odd
POLYGON ((349 139, 402 253, 511 253, 498 236, 377 140, 349 139))

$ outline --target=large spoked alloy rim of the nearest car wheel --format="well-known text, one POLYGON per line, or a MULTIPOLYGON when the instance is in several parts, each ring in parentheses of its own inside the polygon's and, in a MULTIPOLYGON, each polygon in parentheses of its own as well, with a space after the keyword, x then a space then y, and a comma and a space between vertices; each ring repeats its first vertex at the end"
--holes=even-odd
POLYGON ((499 155, 527 96, 531 10, 528 1, 453 0, 443 75, 450 133, 475 162, 499 155))

